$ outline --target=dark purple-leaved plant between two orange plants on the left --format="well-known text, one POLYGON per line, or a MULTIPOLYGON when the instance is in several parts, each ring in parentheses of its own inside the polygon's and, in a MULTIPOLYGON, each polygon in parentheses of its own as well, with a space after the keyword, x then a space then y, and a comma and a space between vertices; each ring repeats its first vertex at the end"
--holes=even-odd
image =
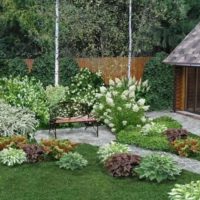
POLYGON ((26 153, 28 162, 35 163, 41 161, 44 156, 44 150, 41 146, 36 144, 25 144, 22 149, 26 153))

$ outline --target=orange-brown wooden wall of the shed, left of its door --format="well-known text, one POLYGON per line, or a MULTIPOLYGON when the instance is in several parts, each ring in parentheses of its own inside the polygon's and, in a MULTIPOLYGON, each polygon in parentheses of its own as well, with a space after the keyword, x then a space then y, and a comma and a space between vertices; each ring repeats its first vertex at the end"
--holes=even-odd
POLYGON ((175 67, 175 110, 185 109, 185 67, 175 67))

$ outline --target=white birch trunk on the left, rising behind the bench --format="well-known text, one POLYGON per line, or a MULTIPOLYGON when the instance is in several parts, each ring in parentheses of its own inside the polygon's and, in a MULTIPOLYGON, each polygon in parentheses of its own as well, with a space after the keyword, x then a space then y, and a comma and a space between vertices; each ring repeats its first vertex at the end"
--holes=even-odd
POLYGON ((55 86, 59 84, 59 0, 56 0, 56 22, 55 22, 55 86))

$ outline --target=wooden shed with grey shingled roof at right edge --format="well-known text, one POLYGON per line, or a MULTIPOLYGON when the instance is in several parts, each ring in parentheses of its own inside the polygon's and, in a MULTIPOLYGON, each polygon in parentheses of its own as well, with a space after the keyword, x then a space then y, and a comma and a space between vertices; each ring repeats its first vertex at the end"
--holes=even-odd
POLYGON ((200 23, 164 63, 175 69, 174 111, 200 114, 200 23))

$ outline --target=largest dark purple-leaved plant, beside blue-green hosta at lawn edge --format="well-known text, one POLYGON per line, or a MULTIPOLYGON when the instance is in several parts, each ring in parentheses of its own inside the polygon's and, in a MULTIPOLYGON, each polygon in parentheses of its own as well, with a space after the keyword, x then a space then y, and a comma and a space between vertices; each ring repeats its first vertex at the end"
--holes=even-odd
POLYGON ((115 154, 106 160, 105 167, 114 177, 131 176, 133 168, 139 165, 140 160, 141 157, 137 155, 115 154))

